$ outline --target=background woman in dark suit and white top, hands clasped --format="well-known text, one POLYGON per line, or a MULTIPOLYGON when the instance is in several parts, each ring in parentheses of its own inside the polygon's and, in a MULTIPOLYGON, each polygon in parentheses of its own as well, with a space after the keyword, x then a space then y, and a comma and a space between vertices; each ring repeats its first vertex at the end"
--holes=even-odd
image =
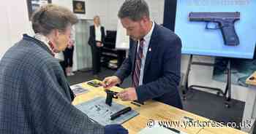
POLYGON ((100 71, 100 55, 101 47, 103 47, 105 39, 105 30, 102 25, 100 25, 99 16, 94 16, 94 25, 90 26, 90 36, 88 44, 91 46, 92 55, 92 69, 93 75, 97 78, 100 71))

